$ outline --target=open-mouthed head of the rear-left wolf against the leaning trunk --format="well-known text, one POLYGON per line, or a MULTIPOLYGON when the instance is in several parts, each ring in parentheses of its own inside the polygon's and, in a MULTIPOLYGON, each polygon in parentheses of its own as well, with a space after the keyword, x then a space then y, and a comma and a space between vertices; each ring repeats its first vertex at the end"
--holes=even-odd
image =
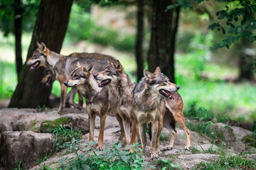
POLYGON ((32 57, 25 62, 26 65, 31 65, 30 70, 38 67, 47 67, 46 57, 49 50, 43 42, 41 44, 36 42, 36 45, 38 48, 33 52, 32 57))

